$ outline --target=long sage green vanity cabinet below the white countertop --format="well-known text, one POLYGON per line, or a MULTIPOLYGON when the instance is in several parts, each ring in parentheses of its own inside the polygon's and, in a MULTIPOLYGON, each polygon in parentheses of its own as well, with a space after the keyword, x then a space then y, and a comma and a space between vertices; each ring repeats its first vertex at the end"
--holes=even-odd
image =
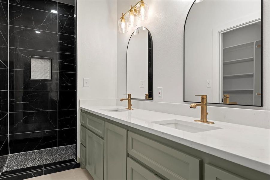
POLYGON ((81 112, 81 162, 94 180, 269 180, 268 174, 81 112), (242 176, 242 177, 241 177, 242 176))

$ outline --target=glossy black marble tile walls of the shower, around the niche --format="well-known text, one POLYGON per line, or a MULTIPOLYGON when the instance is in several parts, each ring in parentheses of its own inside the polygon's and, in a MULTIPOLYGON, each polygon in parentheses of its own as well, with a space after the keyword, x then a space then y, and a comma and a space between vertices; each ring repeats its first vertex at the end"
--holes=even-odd
POLYGON ((5 133, 10 154, 76 144, 74 11, 74 6, 51 0, 0 2, 3 154, 3 147, 8 152, 5 133), (30 56, 52 58, 51 80, 30 79, 30 56))

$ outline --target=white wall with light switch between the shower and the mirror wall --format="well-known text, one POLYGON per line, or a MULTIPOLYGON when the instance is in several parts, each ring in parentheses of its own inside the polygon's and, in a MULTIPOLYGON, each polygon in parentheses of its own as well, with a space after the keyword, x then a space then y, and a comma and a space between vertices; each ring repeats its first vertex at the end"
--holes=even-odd
MULTIPOLYGON (((116 13, 116 1, 77 1, 78 115, 80 99, 116 98, 116 13), (83 78, 89 78, 90 87, 83 87, 83 78)), ((77 129, 77 142, 80 142, 80 116, 77 129)))

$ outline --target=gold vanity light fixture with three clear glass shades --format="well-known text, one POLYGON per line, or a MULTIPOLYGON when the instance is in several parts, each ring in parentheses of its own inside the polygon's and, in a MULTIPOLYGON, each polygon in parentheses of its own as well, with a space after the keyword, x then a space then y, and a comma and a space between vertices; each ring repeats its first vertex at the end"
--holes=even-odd
POLYGON ((135 27, 136 24, 136 18, 139 20, 146 20, 148 19, 148 5, 144 3, 143 0, 139 1, 135 6, 130 6, 130 9, 123 14, 121 18, 118 20, 118 27, 120 33, 126 33, 127 26, 129 27, 135 27), (125 19, 126 16, 126 19, 125 19))

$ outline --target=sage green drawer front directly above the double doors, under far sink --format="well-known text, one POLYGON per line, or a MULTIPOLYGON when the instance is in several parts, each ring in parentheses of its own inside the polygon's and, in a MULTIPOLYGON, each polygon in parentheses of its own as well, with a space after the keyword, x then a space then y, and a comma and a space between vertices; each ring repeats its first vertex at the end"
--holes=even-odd
POLYGON ((96 117, 86 115, 86 128, 93 131, 95 134, 104 137, 104 121, 96 117))

